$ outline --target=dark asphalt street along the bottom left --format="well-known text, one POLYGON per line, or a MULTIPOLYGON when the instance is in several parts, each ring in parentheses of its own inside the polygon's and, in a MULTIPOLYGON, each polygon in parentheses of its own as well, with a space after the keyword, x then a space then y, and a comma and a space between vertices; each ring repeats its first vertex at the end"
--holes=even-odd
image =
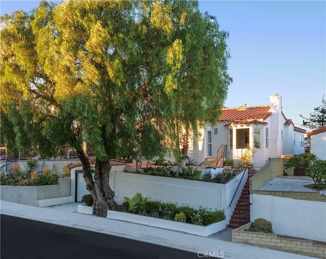
POLYGON ((197 253, 1 215, 2 259, 199 258, 197 253))

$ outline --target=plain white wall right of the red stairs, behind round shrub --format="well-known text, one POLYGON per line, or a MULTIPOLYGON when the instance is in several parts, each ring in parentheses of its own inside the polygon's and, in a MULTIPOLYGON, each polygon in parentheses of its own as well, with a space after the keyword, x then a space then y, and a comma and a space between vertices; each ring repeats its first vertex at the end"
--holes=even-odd
POLYGON ((273 233, 326 242, 326 204, 251 194, 251 221, 268 220, 273 233))

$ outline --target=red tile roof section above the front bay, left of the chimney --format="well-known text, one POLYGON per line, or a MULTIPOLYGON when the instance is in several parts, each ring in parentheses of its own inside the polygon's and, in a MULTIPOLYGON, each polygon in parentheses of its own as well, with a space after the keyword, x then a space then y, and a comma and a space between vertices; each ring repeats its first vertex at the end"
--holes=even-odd
POLYGON ((271 115, 270 105, 261 106, 240 106, 235 108, 223 108, 221 122, 232 121, 253 121, 266 120, 271 115))

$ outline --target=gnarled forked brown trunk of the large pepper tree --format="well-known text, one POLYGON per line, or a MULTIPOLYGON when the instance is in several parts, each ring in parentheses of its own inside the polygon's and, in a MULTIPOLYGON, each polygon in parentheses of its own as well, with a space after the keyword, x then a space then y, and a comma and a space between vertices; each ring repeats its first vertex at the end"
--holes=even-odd
MULTIPOLYGON (((78 158, 83 165, 83 175, 86 189, 91 193, 94 203, 94 215, 106 217, 108 210, 117 210, 118 205, 114 200, 114 191, 110 188, 110 162, 100 161, 96 158, 94 180, 91 165, 83 149, 76 149, 78 158)), ((94 171, 93 171, 94 172, 94 171)))

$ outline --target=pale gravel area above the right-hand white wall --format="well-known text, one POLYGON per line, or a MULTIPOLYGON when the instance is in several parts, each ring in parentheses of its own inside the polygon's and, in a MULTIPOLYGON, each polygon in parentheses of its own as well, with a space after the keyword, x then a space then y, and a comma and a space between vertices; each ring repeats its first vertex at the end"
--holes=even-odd
MULTIPOLYGON (((315 191, 304 187, 307 184, 313 184, 314 181, 307 179, 274 178, 260 188, 262 191, 315 191)), ((326 191, 320 191, 320 194, 326 195, 326 191)))

